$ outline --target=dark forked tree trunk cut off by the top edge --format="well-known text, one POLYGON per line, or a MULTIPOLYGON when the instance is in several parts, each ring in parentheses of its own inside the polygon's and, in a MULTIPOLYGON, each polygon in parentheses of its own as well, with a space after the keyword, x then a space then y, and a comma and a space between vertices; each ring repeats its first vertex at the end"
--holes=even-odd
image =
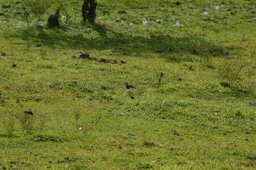
POLYGON ((82 7, 84 22, 88 20, 89 22, 94 23, 96 18, 96 8, 97 3, 95 0, 84 0, 84 4, 82 7))

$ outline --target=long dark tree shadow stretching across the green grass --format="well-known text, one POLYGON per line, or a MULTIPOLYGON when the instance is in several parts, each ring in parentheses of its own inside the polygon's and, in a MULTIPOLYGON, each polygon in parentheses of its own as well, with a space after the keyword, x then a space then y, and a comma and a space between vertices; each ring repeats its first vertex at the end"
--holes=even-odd
POLYGON ((92 26, 99 36, 93 37, 81 32, 67 32, 62 29, 28 28, 21 32, 20 38, 32 43, 41 43, 49 48, 68 50, 112 50, 119 55, 141 55, 152 53, 189 53, 193 55, 227 55, 227 49, 214 45, 202 38, 155 36, 130 36, 109 30, 95 24, 92 26), (107 34, 108 32, 108 34, 107 34))

